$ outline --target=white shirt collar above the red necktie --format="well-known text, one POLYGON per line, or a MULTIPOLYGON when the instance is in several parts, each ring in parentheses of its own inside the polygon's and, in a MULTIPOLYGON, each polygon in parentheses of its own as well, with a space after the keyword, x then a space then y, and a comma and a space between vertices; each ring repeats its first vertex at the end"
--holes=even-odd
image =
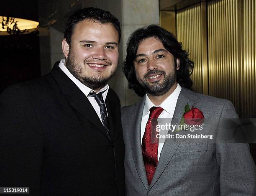
POLYGON ((155 105, 153 102, 151 102, 151 100, 148 98, 148 95, 146 94, 142 117, 148 114, 149 109, 151 107, 159 107, 159 106, 169 114, 173 115, 181 89, 182 87, 177 83, 177 87, 174 90, 174 92, 172 92, 172 94, 170 94, 169 97, 167 97, 160 105, 155 105))

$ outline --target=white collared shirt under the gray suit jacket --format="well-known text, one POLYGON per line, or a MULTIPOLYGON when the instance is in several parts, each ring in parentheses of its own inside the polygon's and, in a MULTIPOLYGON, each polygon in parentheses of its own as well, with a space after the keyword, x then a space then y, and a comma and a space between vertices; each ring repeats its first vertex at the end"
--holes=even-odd
MULTIPOLYGON (((182 87, 177 84, 176 89, 172 94, 167 97, 164 102, 162 102, 160 105, 156 106, 151 100, 148 98, 148 95, 146 94, 146 100, 145 100, 145 105, 143 109, 143 114, 142 114, 142 119, 141 119, 141 143, 142 143, 142 138, 145 132, 146 124, 148 122, 148 117, 149 117, 149 109, 151 107, 161 107, 164 109, 164 111, 159 115, 158 118, 172 118, 174 114, 174 110, 177 104, 177 100, 179 97, 179 93, 181 91, 182 87)), ((158 151, 157 151, 157 160, 159 161, 160 154, 162 151, 162 148, 164 146, 164 143, 159 143, 158 145, 158 151)))

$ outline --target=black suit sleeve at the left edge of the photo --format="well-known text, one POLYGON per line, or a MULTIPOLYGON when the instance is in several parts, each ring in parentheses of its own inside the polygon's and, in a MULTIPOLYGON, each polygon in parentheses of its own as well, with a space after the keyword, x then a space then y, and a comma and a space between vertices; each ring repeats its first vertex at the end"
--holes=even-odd
POLYGON ((31 100, 20 88, 0 95, 0 186, 39 195, 43 135, 31 100))

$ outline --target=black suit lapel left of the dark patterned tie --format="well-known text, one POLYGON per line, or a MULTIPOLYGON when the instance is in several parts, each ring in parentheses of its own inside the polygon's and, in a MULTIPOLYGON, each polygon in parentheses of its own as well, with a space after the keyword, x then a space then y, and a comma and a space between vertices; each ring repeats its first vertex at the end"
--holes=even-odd
POLYGON ((69 105, 95 125, 95 127, 97 127, 108 138, 108 135, 105 133, 104 127, 102 126, 95 109, 92 107, 92 104, 77 85, 75 85, 74 82, 59 68, 59 62, 55 63, 51 74, 59 84, 62 93, 69 97, 69 105))

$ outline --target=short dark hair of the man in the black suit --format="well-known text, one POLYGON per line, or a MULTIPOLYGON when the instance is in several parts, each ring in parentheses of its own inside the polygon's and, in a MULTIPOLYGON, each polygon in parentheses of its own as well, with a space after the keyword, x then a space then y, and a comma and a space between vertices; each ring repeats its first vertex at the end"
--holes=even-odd
POLYGON ((64 31, 64 38, 66 38, 68 44, 71 43, 71 37, 75 25, 85 19, 91 19, 102 24, 111 23, 115 27, 116 31, 118 31, 118 43, 120 42, 121 28, 119 20, 108 11, 90 7, 79 9, 69 16, 64 31))

